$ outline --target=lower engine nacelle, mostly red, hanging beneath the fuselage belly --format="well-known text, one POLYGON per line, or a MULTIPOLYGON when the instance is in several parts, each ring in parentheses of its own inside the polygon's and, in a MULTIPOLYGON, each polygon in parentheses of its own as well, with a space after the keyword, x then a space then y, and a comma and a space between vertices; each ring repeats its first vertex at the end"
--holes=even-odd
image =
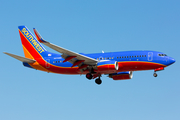
POLYGON ((133 77, 133 74, 132 71, 119 72, 119 73, 109 74, 109 77, 113 78, 113 80, 127 80, 127 79, 131 79, 133 77))

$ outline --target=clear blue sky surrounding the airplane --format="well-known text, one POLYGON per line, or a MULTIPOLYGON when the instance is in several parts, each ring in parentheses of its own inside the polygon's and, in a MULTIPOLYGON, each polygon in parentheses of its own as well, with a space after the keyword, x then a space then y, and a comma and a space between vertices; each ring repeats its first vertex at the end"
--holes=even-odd
MULTIPOLYGON (((0 1, 1 120, 178 120, 180 118, 178 0, 0 1), (176 63, 153 77, 60 75, 23 67, 2 52, 24 56, 18 26, 80 53, 155 50, 176 63)), ((46 49, 51 50, 50 48, 46 49)), ((54 51, 55 52, 55 51, 54 51)))

